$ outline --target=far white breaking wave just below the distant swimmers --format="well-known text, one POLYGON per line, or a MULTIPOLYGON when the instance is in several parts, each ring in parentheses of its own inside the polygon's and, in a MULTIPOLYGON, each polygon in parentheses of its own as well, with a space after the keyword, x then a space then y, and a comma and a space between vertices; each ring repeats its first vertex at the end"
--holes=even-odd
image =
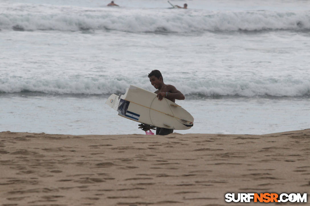
POLYGON ((0 29, 17 31, 233 32, 310 30, 309 11, 206 11, 7 5, 0 29))

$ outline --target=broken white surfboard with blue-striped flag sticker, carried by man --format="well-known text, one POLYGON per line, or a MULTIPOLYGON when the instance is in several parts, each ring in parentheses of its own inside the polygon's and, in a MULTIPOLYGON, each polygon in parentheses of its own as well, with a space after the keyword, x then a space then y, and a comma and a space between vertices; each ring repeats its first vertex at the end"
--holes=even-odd
POLYGON ((124 95, 112 94, 106 104, 118 111, 118 115, 156 127, 186 130, 193 126, 194 118, 180 105, 157 94, 130 85, 124 95))

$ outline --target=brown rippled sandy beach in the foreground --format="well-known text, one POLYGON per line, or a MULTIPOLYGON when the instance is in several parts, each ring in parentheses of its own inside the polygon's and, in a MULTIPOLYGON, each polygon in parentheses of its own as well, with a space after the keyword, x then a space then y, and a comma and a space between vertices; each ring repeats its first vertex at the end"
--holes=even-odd
POLYGON ((310 129, 167 136, 5 131, 0 139, 2 206, 235 205, 225 202, 226 193, 310 191, 310 129))

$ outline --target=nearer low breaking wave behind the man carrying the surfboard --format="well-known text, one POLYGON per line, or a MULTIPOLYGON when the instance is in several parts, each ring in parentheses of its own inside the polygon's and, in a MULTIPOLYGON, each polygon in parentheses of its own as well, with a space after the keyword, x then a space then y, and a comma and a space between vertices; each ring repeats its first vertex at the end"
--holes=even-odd
MULTIPOLYGON (((109 95, 125 93, 130 85, 155 91, 148 81, 136 79, 0 79, 0 93, 42 92, 46 94, 109 95)), ((309 80, 189 80, 173 83, 192 98, 217 96, 310 97, 309 80)))

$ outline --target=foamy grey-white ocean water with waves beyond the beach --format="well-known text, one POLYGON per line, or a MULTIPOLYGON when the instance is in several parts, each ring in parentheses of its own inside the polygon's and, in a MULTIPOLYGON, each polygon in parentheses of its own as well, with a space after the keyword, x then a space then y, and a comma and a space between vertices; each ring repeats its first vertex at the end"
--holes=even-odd
POLYGON ((0 131, 144 134, 105 101, 162 72, 194 117, 175 132, 310 128, 306 0, 0 0, 0 131))

